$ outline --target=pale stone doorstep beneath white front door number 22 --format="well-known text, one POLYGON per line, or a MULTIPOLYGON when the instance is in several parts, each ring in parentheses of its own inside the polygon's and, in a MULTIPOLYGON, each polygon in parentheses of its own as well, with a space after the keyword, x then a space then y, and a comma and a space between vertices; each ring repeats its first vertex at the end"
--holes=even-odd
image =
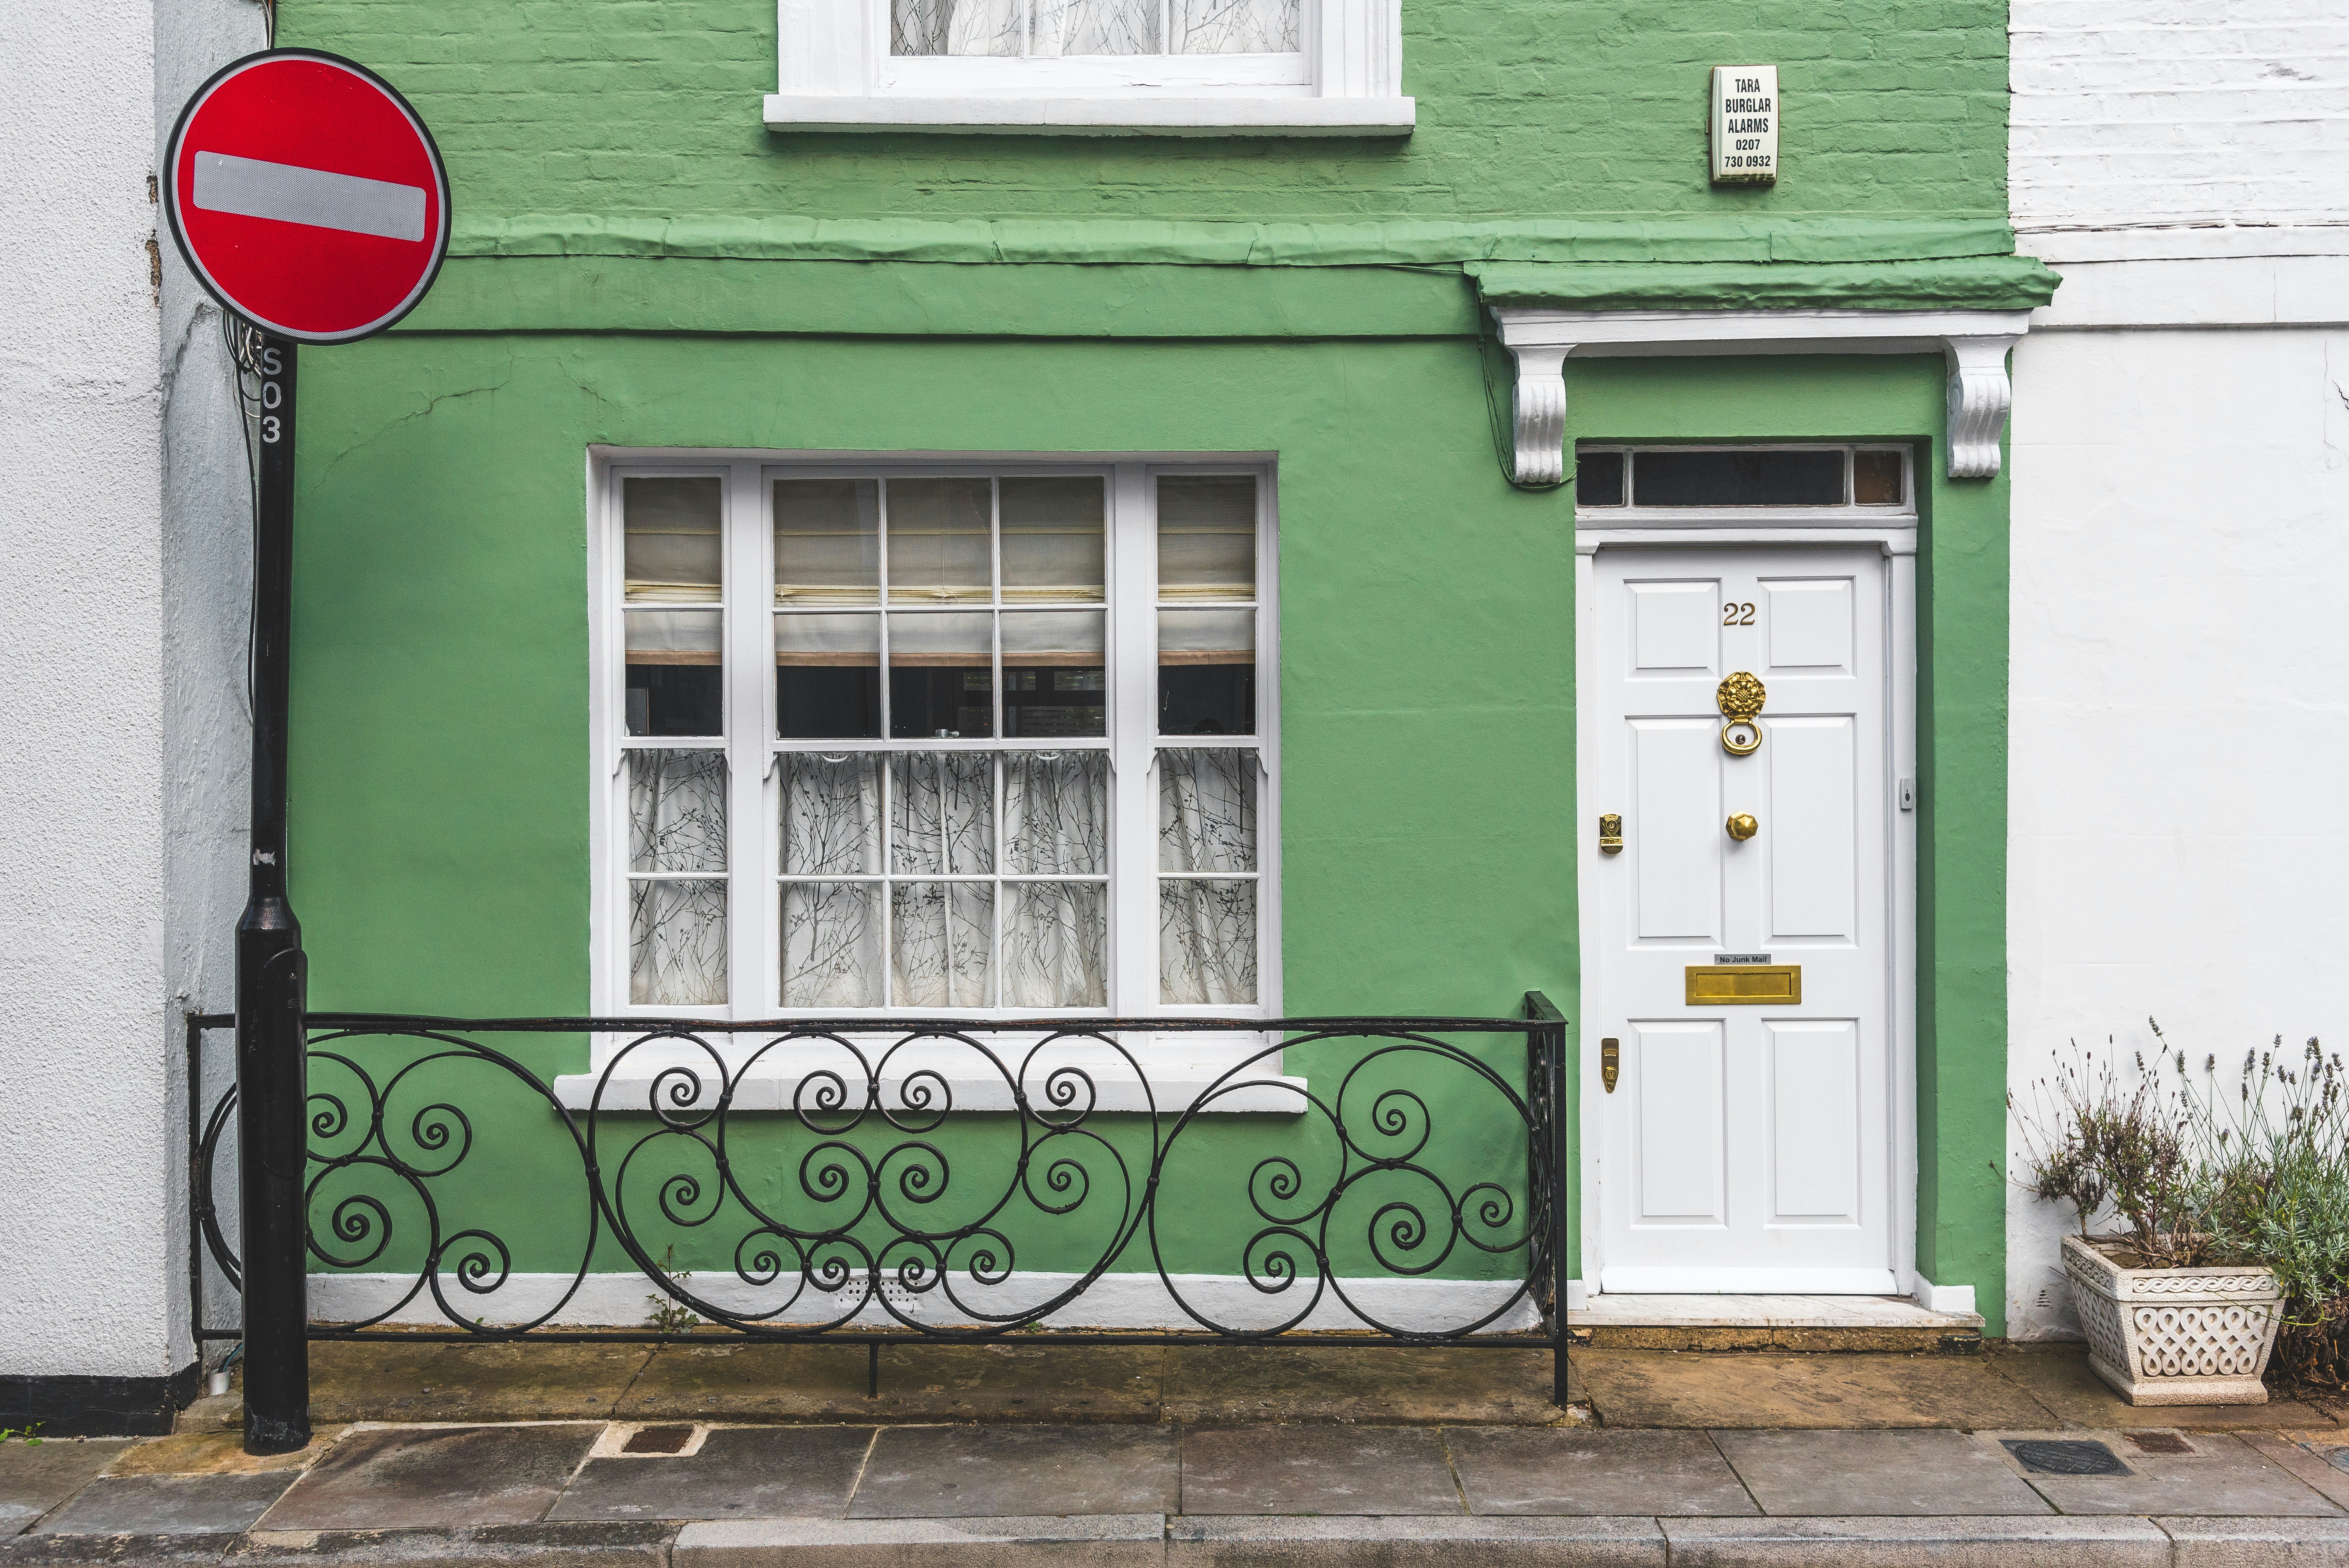
POLYGON ((1929 1312, 1907 1296, 1593 1296, 1567 1312, 1593 1350, 1875 1350, 1971 1354, 1976 1312, 1929 1312))

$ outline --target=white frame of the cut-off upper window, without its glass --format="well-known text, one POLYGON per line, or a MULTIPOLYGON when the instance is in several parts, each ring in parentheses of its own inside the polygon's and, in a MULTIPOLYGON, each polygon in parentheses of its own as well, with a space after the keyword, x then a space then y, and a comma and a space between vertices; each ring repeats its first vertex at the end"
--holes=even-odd
POLYGON ((1400 0, 1301 0, 1294 54, 890 54, 890 0, 778 0, 773 131, 1409 136, 1400 0))

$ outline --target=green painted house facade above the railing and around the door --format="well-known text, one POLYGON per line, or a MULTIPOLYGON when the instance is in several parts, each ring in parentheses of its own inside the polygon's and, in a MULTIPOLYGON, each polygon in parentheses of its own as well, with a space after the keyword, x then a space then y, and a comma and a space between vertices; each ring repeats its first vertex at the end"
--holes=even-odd
MULTIPOLYGON (((413 99, 458 221, 402 329, 303 357, 312 1007, 587 1012, 590 446, 1271 451, 1285 1009, 1539 988, 1571 1021, 1574 502, 1503 477, 1482 307, 2044 300, 2004 228, 2004 28, 1959 0, 1414 2, 1409 138, 775 136, 770 0, 287 0, 280 42, 413 99), (1781 63, 1773 190, 1705 183, 1731 59, 1781 63)), ((1943 477, 1940 359, 1734 380, 1569 361, 1567 441, 1919 453, 1917 1268, 1999 1331, 2006 486, 1943 477)), ((524 1122, 517 1181, 550 1148, 524 1122)), ((1186 1256, 1231 1272, 1212 1230, 1186 1256)), ((514 1265, 566 1244, 547 1221, 514 1265)))

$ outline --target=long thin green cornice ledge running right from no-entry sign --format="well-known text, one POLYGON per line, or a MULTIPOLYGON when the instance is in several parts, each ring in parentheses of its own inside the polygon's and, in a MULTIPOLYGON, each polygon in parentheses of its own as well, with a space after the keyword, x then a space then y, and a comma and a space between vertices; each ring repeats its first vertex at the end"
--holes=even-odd
POLYGON ((1144 223, 1090 218, 458 216, 451 256, 1365 268, 1522 263, 1882 263, 2011 258, 2004 218, 1515 218, 1144 223))

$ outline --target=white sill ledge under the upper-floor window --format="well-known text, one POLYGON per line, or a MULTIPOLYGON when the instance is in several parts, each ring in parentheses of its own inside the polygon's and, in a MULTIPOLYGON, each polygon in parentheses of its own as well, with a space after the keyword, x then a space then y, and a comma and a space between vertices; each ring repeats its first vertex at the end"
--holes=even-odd
POLYGON ((1416 99, 1111 96, 914 99, 768 94, 770 131, 1027 136, 1409 136, 1416 99))

